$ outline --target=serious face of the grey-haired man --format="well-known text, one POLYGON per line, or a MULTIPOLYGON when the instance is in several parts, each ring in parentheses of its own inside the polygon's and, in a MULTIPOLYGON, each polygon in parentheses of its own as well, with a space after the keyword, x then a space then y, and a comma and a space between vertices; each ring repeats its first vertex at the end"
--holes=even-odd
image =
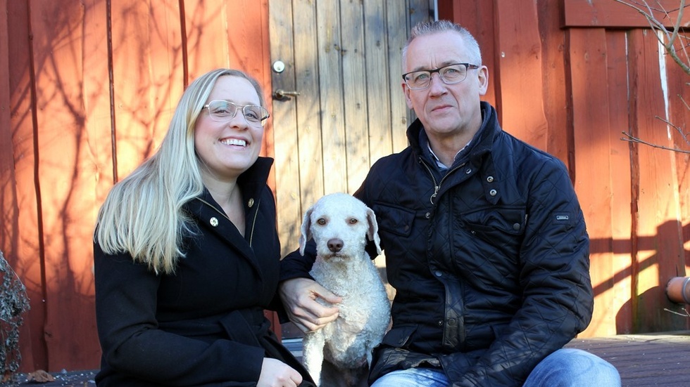
MULTIPOLYGON (((435 70, 453 63, 471 63, 460 34, 439 32, 415 38, 408 46, 404 72, 435 70)), ((408 107, 415 110, 430 137, 473 136, 482 124, 479 97, 487 92, 487 67, 469 69, 458 84, 445 84, 438 73, 422 90, 410 90, 403 82, 408 107)))

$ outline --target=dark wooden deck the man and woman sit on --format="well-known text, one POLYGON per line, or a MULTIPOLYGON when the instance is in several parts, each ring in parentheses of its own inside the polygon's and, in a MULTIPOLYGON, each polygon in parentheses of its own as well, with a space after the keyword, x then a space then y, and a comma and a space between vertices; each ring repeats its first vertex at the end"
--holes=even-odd
MULTIPOLYGON (((289 348, 293 349, 295 343, 289 348)), ((587 350, 606 359, 620 372, 623 387, 690 386, 690 331, 663 334, 629 334, 594 339, 575 339, 569 348, 587 350)), ((301 355, 301 348, 294 348, 301 355)), ((0 383, 0 387, 92 387, 95 370, 56 372, 55 381, 28 382, 25 374, 0 383)), ((601 386, 607 387, 607 386, 601 386)))

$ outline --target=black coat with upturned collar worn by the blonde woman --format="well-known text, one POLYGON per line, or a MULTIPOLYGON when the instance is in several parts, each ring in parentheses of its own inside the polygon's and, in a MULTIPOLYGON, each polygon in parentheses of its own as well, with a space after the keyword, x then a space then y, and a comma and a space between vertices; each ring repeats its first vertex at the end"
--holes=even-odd
POLYGON ((271 164, 262 157, 238 180, 246 237, 208 191, 185 205, 197 232, 174 275, 94 245, 99 386, 256 386, 266 356, 307 375, 263 315, 278 302, 271 164))

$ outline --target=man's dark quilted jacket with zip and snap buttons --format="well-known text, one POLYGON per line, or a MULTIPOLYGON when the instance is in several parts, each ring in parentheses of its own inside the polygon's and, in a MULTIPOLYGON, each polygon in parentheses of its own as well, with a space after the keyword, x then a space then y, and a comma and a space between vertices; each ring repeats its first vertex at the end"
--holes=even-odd
MULTIPOLYGON (((376 214, 396 289, 370 380, 436 367, 453 386, 522 386, 589 324, 589 237, 565 166, 501 131, 487 103, 482 117, 445 173, 414 122, 410 147, 376 162, 355 193, 376 214)), ((291 254, 281 279, 304 265, 291 254)))

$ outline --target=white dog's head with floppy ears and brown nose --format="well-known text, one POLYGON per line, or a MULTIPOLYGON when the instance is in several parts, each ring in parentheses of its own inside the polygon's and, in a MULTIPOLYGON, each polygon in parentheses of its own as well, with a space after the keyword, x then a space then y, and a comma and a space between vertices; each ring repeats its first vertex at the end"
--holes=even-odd
POLYGON ((324 259, 361 254, 367 237, 379 246, 378 225, 374 211, 356 197, 344 193, 326 195, 304 214, 299 237, 299 252, 311 238, 316 252, 324 259))

